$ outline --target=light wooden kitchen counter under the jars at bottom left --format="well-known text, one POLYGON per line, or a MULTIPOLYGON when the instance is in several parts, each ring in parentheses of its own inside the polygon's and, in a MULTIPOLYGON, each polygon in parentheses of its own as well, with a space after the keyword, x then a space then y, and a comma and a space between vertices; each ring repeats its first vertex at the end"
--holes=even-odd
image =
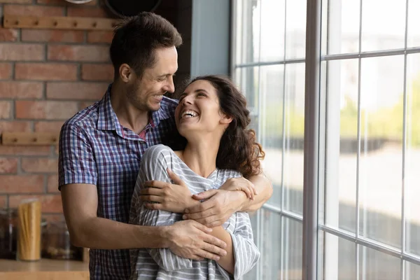
POLYGON ((36 262, 0 259, 1 280, 85 280, 89 264, 76 260, 41 259, 36 262))

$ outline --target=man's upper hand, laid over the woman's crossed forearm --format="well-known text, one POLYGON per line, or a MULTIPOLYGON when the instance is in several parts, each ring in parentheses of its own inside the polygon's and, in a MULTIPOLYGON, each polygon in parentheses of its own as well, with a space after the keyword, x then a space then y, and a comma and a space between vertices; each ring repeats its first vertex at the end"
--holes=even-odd
MULTIPOLYGON (((186 209, 184 220, 195 220, 209 228, 223 225, 228 218, 237 212, 244 201, 249 200, 242 191, 207 190, 194 197, 207 199, 193 207, 186 209)), ((197 199, 197 198, 196 198, 197 199)))

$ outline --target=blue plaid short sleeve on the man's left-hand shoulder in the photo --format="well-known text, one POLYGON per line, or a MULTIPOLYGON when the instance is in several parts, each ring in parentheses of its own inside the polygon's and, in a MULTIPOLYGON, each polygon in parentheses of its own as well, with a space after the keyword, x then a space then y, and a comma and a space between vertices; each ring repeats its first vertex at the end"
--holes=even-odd
POLYGON ((76 125, 64 124, 59 135, 59 189, 69 183, 97 184, 97 165, 87 135, 76 125))

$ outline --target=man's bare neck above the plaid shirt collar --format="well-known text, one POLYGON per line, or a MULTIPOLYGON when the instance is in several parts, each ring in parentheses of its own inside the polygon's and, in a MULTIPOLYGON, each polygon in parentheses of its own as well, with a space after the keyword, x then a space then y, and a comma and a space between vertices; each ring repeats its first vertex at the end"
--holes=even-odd
POLYGON ((148 125, 151 112, 135 108, 127 99, 124 89, 118 82, 113 83, 111 87, 111 106, 116 112, 118 122, 134 133, 140 134, 148 125))

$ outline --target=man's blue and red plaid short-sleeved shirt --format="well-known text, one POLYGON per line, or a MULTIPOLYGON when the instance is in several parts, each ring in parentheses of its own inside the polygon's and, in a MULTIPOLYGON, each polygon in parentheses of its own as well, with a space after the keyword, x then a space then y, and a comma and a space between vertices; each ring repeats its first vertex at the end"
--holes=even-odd
MULTIPOLYGON (((128 223, 139 165, 150 146, 174 140, 176 100, 163 97, 160 109, 139 135, 120 125, 110 90, 99 102, 76 113, 62 126, 59 139, 59 186, 97 186, 97 216, 128 223), (169 136, 170 138, 164 138, 169 136)), ((60 188, 60 187, 59 187, 60 188)), ((116 237, 118 238, 118 237, 116 237)), ((128 279, 129 250, 90 250, 91 279, 128 279)))

